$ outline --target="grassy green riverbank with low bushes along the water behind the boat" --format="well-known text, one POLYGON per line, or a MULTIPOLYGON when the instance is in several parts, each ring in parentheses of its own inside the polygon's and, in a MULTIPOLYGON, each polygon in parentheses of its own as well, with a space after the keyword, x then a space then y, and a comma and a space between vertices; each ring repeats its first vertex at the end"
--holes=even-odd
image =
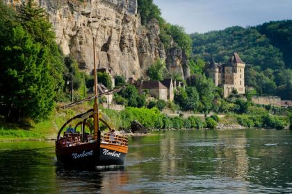
MULTIPOLYGON (((7 123, 0 118, 0 141, 41 141, 41 140, 55 140, 60 127, 76 114, 86 112, 92 107, 89 103, 83 105, 76 105, 70 109, 61 109, 62 105, 56 106, 54 112, 48 121, 40 123, 30 123, 20 125, 17 123, 7 123)), ((117 112, 111 109, 104 109, 103 112, 107 114, 113 121, 113 127, 129 128, 131 122, 139 121, 145 125, 149 132, 159 132, 165 130, 197 130, 204 129, 208 125, 204 118, 190 114, 188 116, 181 114, 181 116, 165 116, 161 114, 158 109, 132 108, 129 107, 124 111, 117 112), (124 120, 124 118, 126 118, 124 120)), ((211 115, 216 121, 214 130, 241 130, 245 128, 277 128, 283 125, 288 126, 288 118, 281 118, 281 116, 271 115, 249 115, 249 114, 216 114, 211 115), (286 121, 287 120, 287 121, 286 121), (269 126, 266 126, 266 123, 269 126)), ((284 129, 287 127, 282 127, 284 129)), ((128 134, 129 136, 145 136, 145 134, 128 134)))

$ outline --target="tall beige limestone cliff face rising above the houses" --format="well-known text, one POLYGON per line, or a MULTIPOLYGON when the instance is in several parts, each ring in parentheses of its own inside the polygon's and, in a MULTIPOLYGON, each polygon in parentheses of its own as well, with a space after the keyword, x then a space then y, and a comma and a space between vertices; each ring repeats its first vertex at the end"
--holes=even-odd
MULTIPOLYGON (((19 6, 26 0, 4 0, 19 6)), ((96 37, 99 67, 111 67, 113 75, 140 78, 158 58, 170 72, 188 76, 187 60, 180 48, 165 51, 159 39, 159 24, 140 24, 137 0, 39 0, 56 32, 56 42, 65 55, 72 54, 79 68, 93 69, 92 37, 96 37), (168 53, 168 54, 166 54, 168 53)))

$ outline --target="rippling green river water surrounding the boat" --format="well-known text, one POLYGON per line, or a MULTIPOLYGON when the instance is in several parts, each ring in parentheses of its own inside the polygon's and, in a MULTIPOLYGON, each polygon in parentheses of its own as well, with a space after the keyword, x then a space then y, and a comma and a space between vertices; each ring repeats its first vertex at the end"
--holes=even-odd
POLYGON ((133 137, 124 168, 56 165, 53 141, 0 142, 0 193, 292 193, 289 130, 133 137))

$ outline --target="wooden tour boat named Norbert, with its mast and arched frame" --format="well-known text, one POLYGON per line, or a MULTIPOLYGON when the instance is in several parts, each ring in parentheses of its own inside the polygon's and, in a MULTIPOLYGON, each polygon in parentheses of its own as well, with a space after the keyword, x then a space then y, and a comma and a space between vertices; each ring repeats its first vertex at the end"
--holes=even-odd
MULTIPOLYGON (((97 68, 95 62, 94 42, 94 75, 95 75, 95 103, 93 109, 70 118, 59 130, 56 140, 56 157, 60 164, 66 166, 111 166, 124 165, 128 152, 127 136, 113 133, 113 127, 106 115, 98 109, 97 68), (90 121, 93 118, 93 131, 90 121), (99 130, 99 121, 110 132, 102 134, 99 130), (65 130, 67 125, 74 125, 74 132, 65 130), (79 132, 77 129, 81 128, 79 132)), ((81 100, 83 101, 83 100, 81 100)), ((74 103, 73 103, 74 104, 74 103)), ((72 105, 72 104, 71 104, 72 105)))

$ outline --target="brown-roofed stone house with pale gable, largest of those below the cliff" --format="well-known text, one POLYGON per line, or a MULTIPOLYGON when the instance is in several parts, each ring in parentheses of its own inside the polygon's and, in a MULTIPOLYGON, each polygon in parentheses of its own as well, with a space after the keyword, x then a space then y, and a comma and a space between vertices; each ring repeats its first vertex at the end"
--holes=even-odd
POLYGON ((149 89, 150 96, 154 96, 155 98, 159 100, 168 100, 168 88, 165 87, 161 82, 157 80, 149 80, 144 81, 142 80, 137 85, 140 94, 143 93, 143 89, 149 89))

